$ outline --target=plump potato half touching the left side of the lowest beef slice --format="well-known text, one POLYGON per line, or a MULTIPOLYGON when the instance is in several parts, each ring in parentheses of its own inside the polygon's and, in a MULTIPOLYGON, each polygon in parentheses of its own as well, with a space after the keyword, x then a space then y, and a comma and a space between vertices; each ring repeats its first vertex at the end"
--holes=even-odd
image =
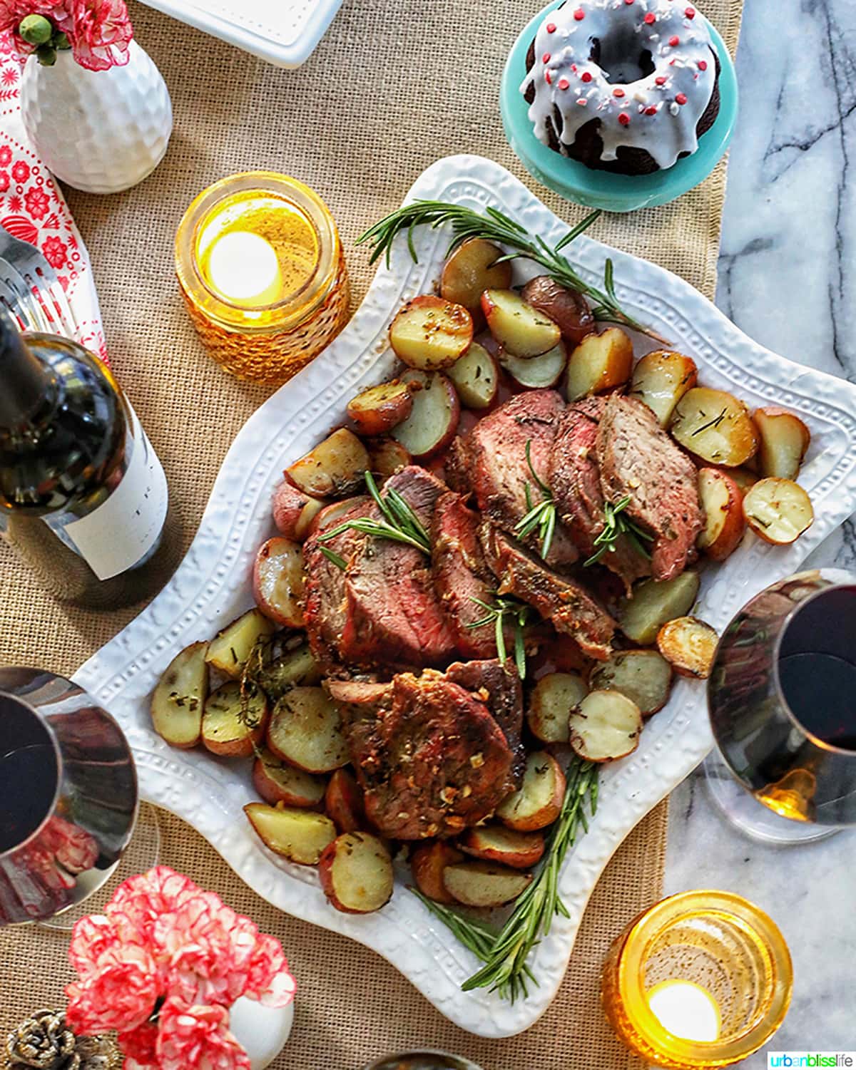
POLYGON ((273 708, 268 747, 306 773, 332 773, 350 759, 339 707, 321 687, 292 687, 273 708))

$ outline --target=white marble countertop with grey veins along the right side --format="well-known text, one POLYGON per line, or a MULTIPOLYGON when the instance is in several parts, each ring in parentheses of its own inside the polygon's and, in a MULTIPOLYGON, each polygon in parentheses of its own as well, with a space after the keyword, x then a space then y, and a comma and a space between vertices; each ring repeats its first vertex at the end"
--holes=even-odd
MULTIPOLYGON (((745 0, 741 113, 729 163, 717 303, 747 334, 856 381, 856 4, 745 0)), ((851 519, 812 556, 856 570, 851 519)), ((666 892, 724 888, 757 903, 794 959, 794 998, 765 1051, 856 1048, 856 831, 754 842, 716 810, 701 770, 672 795, 666 892)))

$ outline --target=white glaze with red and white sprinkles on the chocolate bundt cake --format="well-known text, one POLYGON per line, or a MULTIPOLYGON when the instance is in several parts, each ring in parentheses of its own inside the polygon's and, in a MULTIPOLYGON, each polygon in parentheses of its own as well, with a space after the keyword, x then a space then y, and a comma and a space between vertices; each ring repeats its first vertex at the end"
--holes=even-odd
POLYGON ((704 19, 687 0, 567 0, 547 14, 535 39, 535 64, 521 86, 535 88, 529 120, 549 143, 547 121, 558 108, 562 148, 580 127, 600 119, 600 158, 620 146, 644 149, 659 167, 699 147, 695 127, 716 82, 716 62, 704 19), (600 63, 590 59, 601 43, 600 63), (633 78, 650 51, 654 71, 633 78), (613 71, 604 70, 609 63, 613 71), (627 81, 620 78, 630 77, 627 81))

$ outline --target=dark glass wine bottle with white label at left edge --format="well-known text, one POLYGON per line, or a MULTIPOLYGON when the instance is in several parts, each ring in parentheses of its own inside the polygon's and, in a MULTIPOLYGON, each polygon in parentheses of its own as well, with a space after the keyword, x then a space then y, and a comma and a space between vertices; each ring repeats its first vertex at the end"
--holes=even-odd
POLYGON ((0 316, 0 530, 61 601, 117 608, 177 564, 166 476, 109 368, 0 316))

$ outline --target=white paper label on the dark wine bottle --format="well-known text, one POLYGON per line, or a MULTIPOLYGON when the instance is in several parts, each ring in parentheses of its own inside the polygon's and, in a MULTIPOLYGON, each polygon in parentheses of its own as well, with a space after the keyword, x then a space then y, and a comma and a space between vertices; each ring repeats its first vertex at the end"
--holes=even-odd
POLYGON ((46 518, 100 580, 139 564, 156 547, 169 504, 157 455, 137 414, 127 408, 134 429, 131 459, 110 496, 85 517, 46 518))

